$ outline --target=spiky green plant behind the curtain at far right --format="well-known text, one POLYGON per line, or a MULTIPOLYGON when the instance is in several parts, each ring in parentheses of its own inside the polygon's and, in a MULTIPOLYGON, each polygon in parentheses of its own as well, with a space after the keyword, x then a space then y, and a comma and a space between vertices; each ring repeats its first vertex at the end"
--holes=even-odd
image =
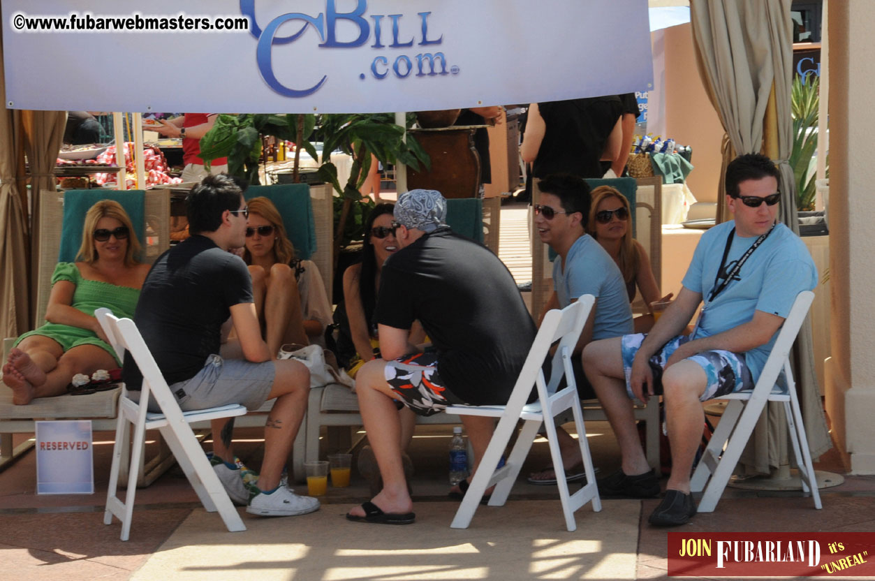
POLYGON ((796 180, 797 210, 813 210, 817 193, 813 158, 817 149, 820 79, 814 74, 807 75, 805 79, 803 83, 802 77, 796 76, 791 93, 793 151, 790 153, 789 164, 796 180))

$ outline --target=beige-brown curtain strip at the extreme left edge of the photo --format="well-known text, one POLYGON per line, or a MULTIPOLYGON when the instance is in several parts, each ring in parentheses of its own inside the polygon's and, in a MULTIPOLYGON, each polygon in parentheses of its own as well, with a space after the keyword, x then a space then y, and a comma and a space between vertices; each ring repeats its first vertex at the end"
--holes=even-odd
MULTIPOLYGON (((0 30, 0 99, 6 102, 3 31, 0 30)), ((20 114, 0 109, 0 337, 16 337, 29 330, 27 284, 27 214, 22 188, 20 114)))

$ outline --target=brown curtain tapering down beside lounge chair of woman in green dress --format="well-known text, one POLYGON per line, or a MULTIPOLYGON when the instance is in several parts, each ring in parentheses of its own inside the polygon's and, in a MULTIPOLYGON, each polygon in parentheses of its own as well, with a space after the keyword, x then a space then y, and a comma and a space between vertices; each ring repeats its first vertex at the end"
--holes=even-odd
MULTIPOLYGON (((39 193, 43 190, 55 190, 57 182, 52 171, 64 138, 66 111, 21 111, 21 118, 25 128, 25 151, 31 173, 32 232, 39 232, 40 228, 59 228, 59 224, 39 223, 39 193)), ((37 288, 39 253, 39 237, 31 236, 31 289, 37 288)), ((57 256, 52 259, 56 260, 57 256)), ((42 321, 33 320, 34 303, 35 301, 31 301, 31 323, 36 326, 41 325, 42 321)))

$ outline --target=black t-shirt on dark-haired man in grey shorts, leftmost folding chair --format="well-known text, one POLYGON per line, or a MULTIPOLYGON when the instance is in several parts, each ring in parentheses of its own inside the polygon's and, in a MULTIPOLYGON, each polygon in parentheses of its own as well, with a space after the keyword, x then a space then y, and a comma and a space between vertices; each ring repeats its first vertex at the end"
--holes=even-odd
MULTIPOLYGON (((239 256, 194 235, 167 250, 143 283, 134 322, 168 384, 198 374, 219 353, 229 307, 252 302, 252 279, 239 256)), ((125 353, 123 381, 139 389, 143 377, 125 353)))

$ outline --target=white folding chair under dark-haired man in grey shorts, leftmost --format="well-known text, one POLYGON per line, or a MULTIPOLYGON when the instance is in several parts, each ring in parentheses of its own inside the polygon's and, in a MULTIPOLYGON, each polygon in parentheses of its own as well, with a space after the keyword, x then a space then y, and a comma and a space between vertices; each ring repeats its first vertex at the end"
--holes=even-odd
POLYGON ((225 521, 225 526, 231 532, 246 530, 240 514, 237 513, 236 508, 228 498, 228 493, 225 492, 219 477, 210 466, 207 455, 200 448, 200 444, 189 425, 189 423, 203 420, 242 416, 246 413, 246 408, 233 404, 184 413, 179 409, 179 403, 172 395, 164 376, 158 369, 158 364, 149 351, 149 347, 146 346, 143 337, 137 330, 137 325, 134 325, 134 321, 130 318, 116 318, 106 308, 95 311, 95 316, 100 321, 109 342, 116 349, 116 353, 124 353, 125 349, 130 351, 131 356, 137 361, 137 367, 143 373, 143 388, 140 391, 139 402, 134 402, 128 397, 127 388, 123 388, 119 398, 116 444, 113 447, 112 468, 109 472, 109 488, 107 489, 107 505, 106 512, 103 514, 103 523, 111 524, 115 514, 122 521, 122 540, 128 540, 130 521, 134 514, 137 471, 140 455, 143 453, 145 431, 159 430, 207 512, 218 510, 222 521, 225 521), (155 414, 147 410, 150 396, 155 398, 163 413, 155 414), (134 425, 134 437, 128 472, 128 489, 125 493, 125 500, 122 502, 116 496, 116 488, 125 447, 125 430, 129 429, 128 423, 134 425))

